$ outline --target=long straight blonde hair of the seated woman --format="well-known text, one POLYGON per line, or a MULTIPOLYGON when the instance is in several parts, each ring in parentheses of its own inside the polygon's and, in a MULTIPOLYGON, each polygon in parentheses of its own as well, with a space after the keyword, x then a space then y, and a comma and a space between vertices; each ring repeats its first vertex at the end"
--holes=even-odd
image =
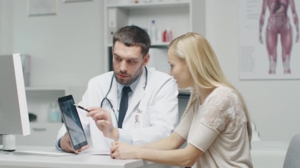
MULTIPOLYGON (((169 45, 169 50, 170 49, 175 56, 186 60, 195 86, 200 86, 201 88, 227 86, 238 95, 247 117, 247 130, 250 141, 252 137, 251 121, 244 99, 236 88, 225 78, 217 56, 209 42, 202 35, 189 32, 175 38, 169 45)), ((188 106, 183 116, 188 112, 190 107, 194 106, 193 102, 195 102, 194 99, 196 98, 195 90, 196 88, 191 89, 188 106)))

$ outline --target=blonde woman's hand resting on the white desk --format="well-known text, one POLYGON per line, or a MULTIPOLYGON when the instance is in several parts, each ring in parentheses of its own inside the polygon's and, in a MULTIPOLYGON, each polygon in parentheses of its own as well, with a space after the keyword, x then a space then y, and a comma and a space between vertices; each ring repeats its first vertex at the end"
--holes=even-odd
POLYGON ((119 141, 112 142, 112 159, 141 159, 139 152, 142 148, 119 141))

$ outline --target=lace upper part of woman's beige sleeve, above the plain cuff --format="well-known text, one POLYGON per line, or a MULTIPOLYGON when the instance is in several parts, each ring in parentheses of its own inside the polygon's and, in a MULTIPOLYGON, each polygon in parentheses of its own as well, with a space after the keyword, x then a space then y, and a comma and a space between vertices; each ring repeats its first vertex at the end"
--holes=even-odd
POLYGON ((219 88, 208 100, 200 117, 200 122, 218 132, 236 129, 247 122, 245 112, 237 94, 229 87, 219 88))

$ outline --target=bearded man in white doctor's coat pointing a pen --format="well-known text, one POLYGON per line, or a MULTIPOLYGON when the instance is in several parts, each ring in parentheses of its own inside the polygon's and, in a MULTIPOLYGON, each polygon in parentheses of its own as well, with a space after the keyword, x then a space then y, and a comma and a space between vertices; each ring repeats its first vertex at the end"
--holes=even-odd
MULTIPOLYGON (((110 151, 111 142, 143 144, 168 137, 177 125, 178 90, 175 80, 146 67, 150 37, 145 30, 126 26, 113 35, 113 71, 92 78, 77 108, 84 132, 95 149, 110 151), (138 116, 139 122, 136 122, 138 116)), ((73 150, 65 126, 56 148, 73 150)))

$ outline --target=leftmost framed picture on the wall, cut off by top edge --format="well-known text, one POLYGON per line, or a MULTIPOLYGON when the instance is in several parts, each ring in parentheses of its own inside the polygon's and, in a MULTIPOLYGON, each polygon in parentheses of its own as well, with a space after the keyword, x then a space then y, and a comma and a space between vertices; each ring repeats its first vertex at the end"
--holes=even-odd
POLYGON ((56 0, 28 0, 28 16, 56 15, 56 0))

